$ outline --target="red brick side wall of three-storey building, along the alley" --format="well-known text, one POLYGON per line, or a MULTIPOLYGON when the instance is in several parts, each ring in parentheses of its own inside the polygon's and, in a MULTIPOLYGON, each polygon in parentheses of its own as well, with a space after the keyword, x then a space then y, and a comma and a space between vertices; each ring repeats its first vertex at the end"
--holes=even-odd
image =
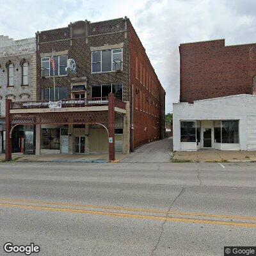
MULTIPOLYGON (((129 22, 134 147, 163 138, 165 92, 129 22)), ((132 122, 132 121, 131 121, 132 122)))

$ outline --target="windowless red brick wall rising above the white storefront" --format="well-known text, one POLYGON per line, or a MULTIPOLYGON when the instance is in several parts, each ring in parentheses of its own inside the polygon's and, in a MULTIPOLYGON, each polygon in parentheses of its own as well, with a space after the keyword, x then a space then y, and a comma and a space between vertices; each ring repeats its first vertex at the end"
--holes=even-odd
POLYGON ((225 40, 180 44, 180 102, 252 94, 256 44, 225 40))

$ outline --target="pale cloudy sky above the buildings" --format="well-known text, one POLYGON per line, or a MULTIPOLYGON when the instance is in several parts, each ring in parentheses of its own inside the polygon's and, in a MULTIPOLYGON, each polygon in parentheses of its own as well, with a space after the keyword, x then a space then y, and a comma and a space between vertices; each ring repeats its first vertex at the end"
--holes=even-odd
POLYGON ((0 0, 0 35, 20 39, 76 20, 127 16, 166 90, 169 112, 179 100, 179 44, 256 42, 255 10, 255 0, 0 0))

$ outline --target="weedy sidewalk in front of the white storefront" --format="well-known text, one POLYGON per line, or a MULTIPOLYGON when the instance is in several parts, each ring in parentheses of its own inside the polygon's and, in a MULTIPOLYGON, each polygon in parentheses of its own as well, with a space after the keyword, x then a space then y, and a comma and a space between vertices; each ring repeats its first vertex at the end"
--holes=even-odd
POLYGON ((252 162, 256 151, 198 150, 173 152, 172 162, 252 162))

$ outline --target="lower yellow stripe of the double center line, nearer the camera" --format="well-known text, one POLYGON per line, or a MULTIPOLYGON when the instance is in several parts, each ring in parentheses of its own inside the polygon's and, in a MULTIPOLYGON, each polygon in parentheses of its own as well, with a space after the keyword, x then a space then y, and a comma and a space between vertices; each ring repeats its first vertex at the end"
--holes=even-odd
POLYGON ((182 222, 182 223, 197 223, 197 224, 212 224, 212 225, 226 225, 234 227, 246 227, 246 228, 256 228, 256 223, 239 223, 231 221, 215 221, 215 220, 198 220, 198 219, 186 219, 186 218, 173 218, 173 217, 159 217, 159 216, 147 216, 138 214, 124 214, 117 212, 100 212, 100 211, 88 211, 79 209, 68 209, 68 208, 54 208, 54 207, 44 207, 44 206, 33 206, 33 205, 19 205, 19 204, 4 204, 0 203, 3 207, 15 207, 19 209, 29 209, 38 211, 51 211, 51 212, 72 212, 72 213, 83 213, 92 215, 102 215, 111 216, 119 218, 133 218, 141 220, 157 220, 157 221, 169 221, 169 222, 182 222))

